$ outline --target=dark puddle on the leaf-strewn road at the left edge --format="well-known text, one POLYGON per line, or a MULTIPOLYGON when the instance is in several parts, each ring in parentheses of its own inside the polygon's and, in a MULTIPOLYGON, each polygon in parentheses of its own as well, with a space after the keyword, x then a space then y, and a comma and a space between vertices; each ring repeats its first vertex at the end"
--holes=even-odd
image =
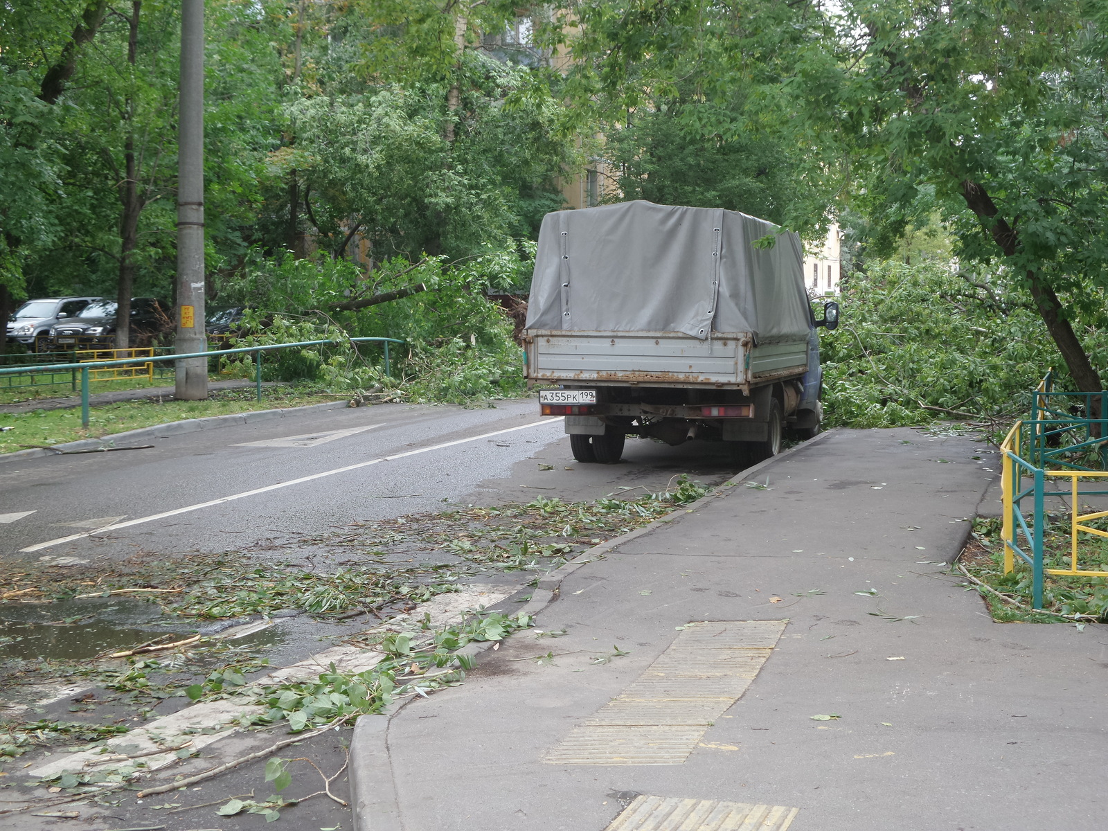
POLYGON ((187 637, 203 625, 132 597, 0 603, 0 660, 83 660, 109 649, 130 649, 160 635, 187 637))

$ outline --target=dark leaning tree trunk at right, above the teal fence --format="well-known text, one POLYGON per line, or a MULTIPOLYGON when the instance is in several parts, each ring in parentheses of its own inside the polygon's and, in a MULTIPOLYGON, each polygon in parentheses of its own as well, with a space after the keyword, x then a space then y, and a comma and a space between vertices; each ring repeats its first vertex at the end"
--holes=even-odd
MULTIPOLYGON (((1008 222, 999 215, 999 211, 992 197, 976 182, 966 179, 962 183, 962 196, 966 205, 984 222, 994 242, 1004 252, 1004 256, 1010 257, 1019 249, 1019 235, 1008 222)), ((1054 339, 1061 358, 1066 361, 1069 377, 1074 379, 1077 389, 1081 392, 1099 392, 1104 389, 1100 376, 1094 369, 1085 347, 1078 339, 1074 327, 1061 314, 1061 301, 1049 283, 1043 279, 1042 275, 1028 269, 1027 283, 1030 287, 1032 299, 1038 308, 1043 322, 1046 324, 1047 331, 1054 339)))

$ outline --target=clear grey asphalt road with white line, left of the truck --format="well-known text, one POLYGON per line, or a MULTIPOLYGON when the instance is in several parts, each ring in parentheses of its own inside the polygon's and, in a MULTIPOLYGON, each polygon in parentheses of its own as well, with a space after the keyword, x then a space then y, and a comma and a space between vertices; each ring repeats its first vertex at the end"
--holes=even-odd
POLYGON ((719 445, 702 442, 633 440, 620 464, 578 464, 561 419, 537 410, 525 400, 308 411, 157 439, 147 450, 7 462, 0 557, 226 551, 444 503, 595 499, 659 490, 680 473, 714 483, 736 472, 719 445))

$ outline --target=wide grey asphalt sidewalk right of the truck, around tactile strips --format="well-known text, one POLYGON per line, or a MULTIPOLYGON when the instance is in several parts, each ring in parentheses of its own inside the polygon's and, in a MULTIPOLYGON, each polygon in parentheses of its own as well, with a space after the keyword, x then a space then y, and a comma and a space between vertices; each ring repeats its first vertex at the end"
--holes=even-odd
MULTIPOLYGON (((792 831, 1104 828, 1102 627, 994 624, 944 574, 996 460, 970 438, 837 431, 762 468, 769 490, 725 489, 576 570, 537 622, 563 636, 512 638, 463 686, 393 716, 378 762, 400 825, 602 831, 653 794, 799 809, 792 831), (768 659, 693 730, 690 752, 604 760, 630 747, 618 719, 596 718, 620 693, 668 674, 671 698, 693 698, 714 671, 705 644, 777 637, 769 624, 678 627, 748 620, 788 623, 771 653, 745 653, 768 659), (567 745, 589 720, 611 740, 567 745)), ((686 724, 667 718, 657 724, 686 724)))

